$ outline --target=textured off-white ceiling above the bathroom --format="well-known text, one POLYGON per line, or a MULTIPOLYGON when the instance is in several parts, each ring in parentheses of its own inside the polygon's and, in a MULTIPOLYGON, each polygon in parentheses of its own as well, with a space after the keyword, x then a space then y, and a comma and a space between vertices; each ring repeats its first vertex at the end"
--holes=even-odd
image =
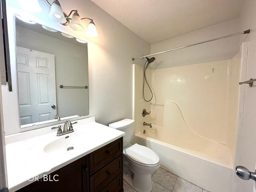
POLYGON ((160 42, 237 18, 243 2, 243 0, 91 1, 149 43, 160 42))

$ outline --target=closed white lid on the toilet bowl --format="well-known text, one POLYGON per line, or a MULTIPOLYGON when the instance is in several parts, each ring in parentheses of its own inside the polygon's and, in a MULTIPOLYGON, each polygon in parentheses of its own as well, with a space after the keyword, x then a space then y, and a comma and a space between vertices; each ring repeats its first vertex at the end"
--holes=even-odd
POLYGON ((129 158, 141 164, 154 165, 159 163, 159 157, 154 151, 139 144, 130 146, 125 152, 129 158))

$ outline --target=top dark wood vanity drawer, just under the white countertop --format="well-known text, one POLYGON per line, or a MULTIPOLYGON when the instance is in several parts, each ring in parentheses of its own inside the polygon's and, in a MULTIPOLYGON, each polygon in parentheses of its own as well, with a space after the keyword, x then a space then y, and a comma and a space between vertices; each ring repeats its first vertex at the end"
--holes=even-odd
POLYGON ((90 174, 108 164, 123 153, 123 138, 120 138, 90 154, 90 174))

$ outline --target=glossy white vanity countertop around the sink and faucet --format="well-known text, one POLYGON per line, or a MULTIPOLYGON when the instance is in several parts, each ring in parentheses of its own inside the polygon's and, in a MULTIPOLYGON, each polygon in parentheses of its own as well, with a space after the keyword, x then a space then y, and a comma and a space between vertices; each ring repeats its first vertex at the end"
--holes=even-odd
POLYGON ((7 178, 10 192, 32 183, 29 180, 35 176, 41 178, 50 174, 125 135, 122 131, 96 123, 94 117, 77 122, 78 124, 73 125, 74 132, 63 136, 56 136, 57 130, 51 130, 52 126, 6 136, 7 178), (44 134, 40 134, 42 132, 44 134), (66 136, 82 137, 82 142, 71 144, 74 145, 74 150, 70 151, 60 150, 52 153, 44 151, 47 144, 66 136))

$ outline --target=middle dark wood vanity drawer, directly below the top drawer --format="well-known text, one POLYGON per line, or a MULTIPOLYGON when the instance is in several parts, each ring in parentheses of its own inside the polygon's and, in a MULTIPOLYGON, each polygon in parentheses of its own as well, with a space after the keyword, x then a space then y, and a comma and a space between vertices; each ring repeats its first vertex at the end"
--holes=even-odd
POLYGON ((100 192, 118 174, 122 173, 122 154, 90 177, 90 192, 100 192))

